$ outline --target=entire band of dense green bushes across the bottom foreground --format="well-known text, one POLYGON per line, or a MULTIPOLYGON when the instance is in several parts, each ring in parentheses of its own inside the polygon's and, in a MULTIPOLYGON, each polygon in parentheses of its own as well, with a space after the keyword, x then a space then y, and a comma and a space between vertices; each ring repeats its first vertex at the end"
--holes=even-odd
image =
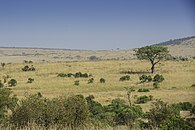
MULTIPOLYGON (((138 98, 140 103, 152 96, 138 98)), ((11 125, 12 129, 23 128, 31 123, 49 129, 84 129, 93 124, 98 129, 126 125, 134 129, 189 129, 194 127, 180 117, 179 111, 194 113, 189 102, 168 105, 156 100, 149 112, 143 112, 139 105, 128 105, 122 99, 113 99, 108 105, 95 101, 93 95, 82 95, 47 99, 41 93, 18 100, 10 89, 0 88, 0 124, 11 125)))

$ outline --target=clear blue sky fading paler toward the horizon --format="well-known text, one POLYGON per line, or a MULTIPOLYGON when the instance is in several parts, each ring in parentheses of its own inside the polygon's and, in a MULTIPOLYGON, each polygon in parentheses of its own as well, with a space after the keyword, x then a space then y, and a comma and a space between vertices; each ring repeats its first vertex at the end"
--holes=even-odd
POLYGON ((131 49, 195 36, 194 0, 0 0, 0 46, 131 49))

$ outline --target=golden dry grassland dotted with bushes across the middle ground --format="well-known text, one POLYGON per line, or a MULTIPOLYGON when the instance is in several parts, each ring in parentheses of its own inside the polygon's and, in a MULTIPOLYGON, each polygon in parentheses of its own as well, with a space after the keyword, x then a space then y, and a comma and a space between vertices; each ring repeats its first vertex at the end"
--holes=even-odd
MULTIPOLYGON (((140 84, 141 74, 130 74, 130 81, 119 81, 125 71, 146 72, 150 71, 148 61, 138 60, 109 60, 109 61, 79 61, 79 62, 55 62, 55 63, 33 63, 36 71, 24 72, 21 69, 24 63, 6 64, 0 68, 0 77, 9 75, 17 80, 18 84, 13 87, 13 92, 20 99, 26 95, 41 92, 45 97, 68 96, 73 94, 92 94, 96 100, 107 104, 114 98, 127 100, 124 87, 149 88, 148 93, 133 92, 132 99, 138 95, 153 95, 156 99, 162 99, 169 103, 192 102, 195 103, 195 60, 191 61, 163 61, 156 66, 156 73, 165 77, 159 89, 153 89, 152 84, 140 84), (94 83, 87 84, 89 78, 62 78, 57 73, 86 72, 92 74, 94 83), (27 84, 27 79, 35 81, 27 84), (99 79, 106 79, 106 83, 100 83, 99 79), (74 81, 79 80, 80 85, 75 86, 74 81)), ((151 103, 142 105, 148 110, 151 103)))

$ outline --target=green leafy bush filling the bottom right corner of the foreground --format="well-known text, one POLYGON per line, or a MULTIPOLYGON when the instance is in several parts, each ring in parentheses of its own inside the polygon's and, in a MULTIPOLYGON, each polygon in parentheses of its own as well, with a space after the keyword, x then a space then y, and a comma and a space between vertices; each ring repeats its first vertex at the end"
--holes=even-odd
POLYGON ((179 115, 179 109, 175 105, 157 100, 149 113, 147 113, 148 124, 161 129, 189 129, 193 127, 184 121, 179 115))

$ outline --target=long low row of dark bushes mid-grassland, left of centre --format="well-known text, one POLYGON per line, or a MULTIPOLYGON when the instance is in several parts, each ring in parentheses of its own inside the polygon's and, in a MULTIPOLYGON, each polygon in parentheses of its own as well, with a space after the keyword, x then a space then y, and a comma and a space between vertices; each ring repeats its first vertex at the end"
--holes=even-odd
POLYGON ((67 73, 67 74, 65 74, 65 73, 61 72, 61 73, 58 73, 58 74, 57 74, 57 77, 88 78, 88 77, 90 77, 90 76, 91 76, 91 74, 88 74, 88 73, 81 73, 81 72, 77 72, 77 73, 75 73, 75 74, 73 74, 73 73, 67 73))

